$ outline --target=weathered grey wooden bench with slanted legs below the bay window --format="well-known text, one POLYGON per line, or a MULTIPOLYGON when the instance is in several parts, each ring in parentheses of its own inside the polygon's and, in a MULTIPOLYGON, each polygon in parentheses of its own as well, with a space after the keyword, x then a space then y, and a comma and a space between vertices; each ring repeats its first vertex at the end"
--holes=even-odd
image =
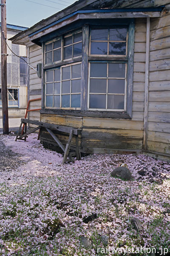
POLYGON ((37 131, 41 128, 45 128, 48 131, 48 133, 53 137, 55 142, 59 145, 59 147, 64 152, 62 164, 64 164, 66 161, 74 163, 74 159, 72 157, 73 154, 70 152, 71 140, 72 140, 73 136, 76 137, 76 145, 75 145, 76 158, 77 158, 77 160, 81 160, 81 154, 80 154, 80 150, 79 150, 79 135, 82 133, 82 129, 79 129, 79 128, 48 124, 48 123, 45 123, 45 122, 39 122, 39 121, 34 121, 34 120, 22 118, 20 128, 19 128, 18 134, 15 138, 15 141, 17 141, 17 140, 25 140, 26 141, 26 138, 28 137, 29 134, 34 133, 35 131, 37 131), (25 124, 24 134, 22 134, 22 125, 23 124, 25 124), (27 124, 37 125, 37 127, 34 128, 33 130, 27 132, 27 124), (60 131, 60 132, 64 132, 66 134, 69 134, 69 139, 68 139, 68 143, 66 144, 66 146, 64 146, 59 141, 59 139, 53 133, 52 130, 53 131, 60 131))

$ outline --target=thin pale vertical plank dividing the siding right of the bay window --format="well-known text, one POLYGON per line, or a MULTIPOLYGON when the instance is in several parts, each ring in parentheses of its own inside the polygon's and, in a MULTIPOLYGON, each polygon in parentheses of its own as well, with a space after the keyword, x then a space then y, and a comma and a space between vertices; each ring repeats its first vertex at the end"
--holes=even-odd
POLYGON ((149 107, 149 55, 150 55, 150 18, 147 18, 146 32, 146 64, 145 64, 145 88, 144 88, 144 142, 143 148, 147 150, 147 128, 149 107))

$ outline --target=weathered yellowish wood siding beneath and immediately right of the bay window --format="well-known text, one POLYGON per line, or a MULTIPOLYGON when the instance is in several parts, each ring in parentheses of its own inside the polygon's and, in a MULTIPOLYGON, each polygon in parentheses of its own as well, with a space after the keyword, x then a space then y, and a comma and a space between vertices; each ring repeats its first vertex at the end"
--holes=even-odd
MULTIPOLYGON (((139 152, 143 147, 144 81, 146 59, 146 19, 136 19, 133 72, 132 119, 75 117, 41 114, 42 122, 82 128, 79 140, 82 151, 111 153, 120 151, 139 152)), ((62 142, 63 135, 59 135, 62 142)), ((65 140, 68 137, 65 137, 65 140)), ((46 132, 42 141, 53 141, 46 132)), ((54 142, 54 141, 53 141, 54 142)))

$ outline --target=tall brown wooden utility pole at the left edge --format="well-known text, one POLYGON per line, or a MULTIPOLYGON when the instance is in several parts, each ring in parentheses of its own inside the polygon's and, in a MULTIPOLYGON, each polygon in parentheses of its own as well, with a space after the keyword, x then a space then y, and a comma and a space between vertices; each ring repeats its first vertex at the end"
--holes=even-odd
POLYGON ((7 49, 6 49, 6 0, 1 0, 1 92, 3 134, 9 134, 8 125, 8 90, 7 90, 7 49))

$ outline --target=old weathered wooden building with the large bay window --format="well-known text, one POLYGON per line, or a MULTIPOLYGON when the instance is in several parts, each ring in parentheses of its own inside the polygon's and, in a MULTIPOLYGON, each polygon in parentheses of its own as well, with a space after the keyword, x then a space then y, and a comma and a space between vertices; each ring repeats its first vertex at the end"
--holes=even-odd
POLYGON ((170 159, 170 0, 79 0, 11 40, 42 63, 41 79, 29 68, 29 99, 42 97, 29 119, 81 128, 84 153, 170 159))

